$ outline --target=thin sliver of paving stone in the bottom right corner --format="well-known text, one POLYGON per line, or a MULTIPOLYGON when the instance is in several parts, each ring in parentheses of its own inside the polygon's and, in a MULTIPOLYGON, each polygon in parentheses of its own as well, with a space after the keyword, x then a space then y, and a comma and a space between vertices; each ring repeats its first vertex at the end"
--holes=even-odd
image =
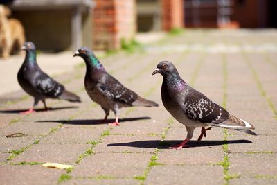
POLYGON ((245 185, 260 185, 260 184, 265 184, 265 185, 272 185, 272 184, 277 184, 277 179, 258 179, 258 178, 249 178, 249 177, 240 177, 238 179, 231 179, 229 181, 230 185, 240 185, 240 184, 245 184, 245 185))

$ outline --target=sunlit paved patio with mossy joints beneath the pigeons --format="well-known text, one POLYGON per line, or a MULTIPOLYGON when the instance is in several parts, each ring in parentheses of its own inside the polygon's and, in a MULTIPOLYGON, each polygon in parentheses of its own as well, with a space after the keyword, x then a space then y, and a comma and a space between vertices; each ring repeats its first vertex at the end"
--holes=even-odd
POLYGON ((276 43, 277 30, 185 30, 145 51, 102 58, 123 85, 160 104, 121 109, 119 127, 100 123, 105 114, 84 91, 81 59, 55 79, 82 103, 48 100, 53 109, 24 116, 18 112, 33 98, 24 91, 0 96, 0 184, 277 184, 276 43), (152 76, 160 60, 255 125, 258 136, 214 127, 197 143, 197 129, 189 148, 168 149, 186 129, 161 103, 162 78, 152 76), (7 137, 15 133, 21 134, 7 137), (46 162, 73 168, 45 168, 46 162))

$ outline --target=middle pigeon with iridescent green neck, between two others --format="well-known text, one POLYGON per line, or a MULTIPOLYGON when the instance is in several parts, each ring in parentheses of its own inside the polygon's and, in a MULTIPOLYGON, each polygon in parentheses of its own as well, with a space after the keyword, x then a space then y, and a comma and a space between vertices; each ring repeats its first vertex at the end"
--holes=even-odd
POLYGON ((121 107, 157 107, 154 101, 141 98, 134 91, 124 87, 116 78, 109 75, 103 65, 100 63, 93 51, 86 47, 81 47, 73 55, 84 59, 87 71, 84 78, 84 87, 87 94, 94 102, 98 103, 105 112, 105 118, 102 123, 106 123, 109 111, 116 115, 114 123, 110 125, 117 126, 119 109, 121 107))

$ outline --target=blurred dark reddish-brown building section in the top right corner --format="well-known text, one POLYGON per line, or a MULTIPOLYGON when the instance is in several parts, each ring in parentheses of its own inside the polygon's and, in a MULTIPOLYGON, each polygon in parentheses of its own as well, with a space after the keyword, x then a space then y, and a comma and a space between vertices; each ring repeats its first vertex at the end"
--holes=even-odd
POLYGON ((276 5, 276 0, 184 0, 184 24, 190 28, 276 28, 276 5))

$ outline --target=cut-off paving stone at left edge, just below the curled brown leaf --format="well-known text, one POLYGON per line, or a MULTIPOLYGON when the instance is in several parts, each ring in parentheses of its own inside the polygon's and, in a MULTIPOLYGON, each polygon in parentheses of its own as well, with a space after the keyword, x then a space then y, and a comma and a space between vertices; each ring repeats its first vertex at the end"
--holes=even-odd
POLYGON ((17 138, 7 138, 6 136, 0 136, 0 152, 19 150, 32 144, 34 141, 35 137, 30 135, 17 138))

